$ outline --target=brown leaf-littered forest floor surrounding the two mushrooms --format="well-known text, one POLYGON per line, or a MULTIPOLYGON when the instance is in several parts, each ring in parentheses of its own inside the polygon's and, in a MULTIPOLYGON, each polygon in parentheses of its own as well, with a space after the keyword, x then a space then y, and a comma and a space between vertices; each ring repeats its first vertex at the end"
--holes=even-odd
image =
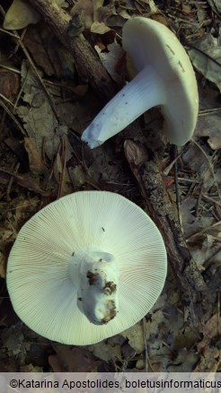
POLYGON ((67 14, 78 15, 78 33, 84 31, 116 90, 126 79, 122 27, 137 15, 172 29, 197 75, 199 120, 188 144, 168 144, 152 109, 94 150, 81 134, 107 97, 102 102, 80 74, 73 53, 57 39, 56 23, 53 28, 44 20, 36 4, 22 11, 16 0, 0 6, 0 371, 221 371, 220 2, 57 0, 67 14), (169 258, 164 291, 137 325, 95 345, 52 343, 13 311, 5 284, 13 241, 33 214, 75 191, 116 192, 148 211, 127 153, 131 141, 138 152, 141 145, 147 156, 155 152, 205 287, 191 288, 194 303, 185 304, 181 275, 169 258))

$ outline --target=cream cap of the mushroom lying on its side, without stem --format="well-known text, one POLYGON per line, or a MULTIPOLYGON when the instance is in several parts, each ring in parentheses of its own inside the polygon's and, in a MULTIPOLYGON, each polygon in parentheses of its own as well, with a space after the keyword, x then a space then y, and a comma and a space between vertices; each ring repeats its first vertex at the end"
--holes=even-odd
POLYGON ((190 57, 179 39, 164 24, 135 17, 123 27, 122 45, 137 73, 152 66, 162 79, 167 98, 161 106, 164 131, 171 144, 186 144, 196 127, 199 93, 190 57))

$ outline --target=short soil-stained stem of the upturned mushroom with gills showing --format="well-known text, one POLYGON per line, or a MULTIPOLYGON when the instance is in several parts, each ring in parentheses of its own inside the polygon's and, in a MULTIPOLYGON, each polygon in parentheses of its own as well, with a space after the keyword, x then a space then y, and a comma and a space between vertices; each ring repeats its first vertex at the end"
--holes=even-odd
POLYGON ((83 261, 77 293, 78 308, 94 325, 108 323, 116 316, 119 307, 118 269, 113 256, 100 254, 95 262, 83 261), (102 255, 107 257, 106 260, 102 255))

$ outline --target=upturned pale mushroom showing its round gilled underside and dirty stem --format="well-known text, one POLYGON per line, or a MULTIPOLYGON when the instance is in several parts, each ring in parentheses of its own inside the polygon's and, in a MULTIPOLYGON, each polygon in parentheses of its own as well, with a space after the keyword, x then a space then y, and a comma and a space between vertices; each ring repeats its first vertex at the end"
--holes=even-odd
POLYGON ((41 336, 90 345, 136 324, 166 275, 155 223, 124 196, 63 196, 25 223, 13 244, 6 282, 13 309, 41 336))

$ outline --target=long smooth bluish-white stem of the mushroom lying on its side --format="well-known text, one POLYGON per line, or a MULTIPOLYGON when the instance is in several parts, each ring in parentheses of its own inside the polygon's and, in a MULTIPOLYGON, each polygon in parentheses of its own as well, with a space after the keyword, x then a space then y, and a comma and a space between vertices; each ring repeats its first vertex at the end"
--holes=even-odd
POLYGON ((103 144, 132 121, 157 105, 164 104, 164 84, 151 66, 146 66, 93 119, 82 140, 91 149, 103 144))

